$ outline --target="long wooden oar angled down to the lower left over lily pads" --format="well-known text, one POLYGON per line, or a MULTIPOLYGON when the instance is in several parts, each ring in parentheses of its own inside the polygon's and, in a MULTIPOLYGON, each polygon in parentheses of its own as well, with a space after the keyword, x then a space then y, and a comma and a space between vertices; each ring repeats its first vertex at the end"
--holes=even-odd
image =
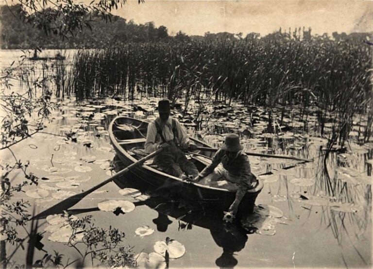
POLYGON ((47 217, 47 216, 49 216, 51 214, 56 214, 56 212, 61 212, 63 210, 67 210, 68 208, 70 208, 70 207, 74 206, 75 204, 77 204, 80 200, 82 200, 85 196, 87 196, 91 192, 97 190, 98 188, 101 188, 103 185, 108 184, 109 182, 111 182, 114 179, 120 177, 124 173, 127 173, 129 170, 131 170, 131 168, 134 168, 136 166, 142 165, 146 160, 149 160, 150 158, 153 158, 155 155, 157 155, 161 151, 163 151, 162 148, 159 149, 159 150, 157 150, 157 151, 154 151, 153 153, 149 154, 148 156, 146 156, 144 158, 141 158, 140 160, 136 161, 132 165, 129 165, 128 167, 124 168, 123 170, 120 170, 118 173, 116 173, 112 177, 106 179, 102 183, 100 183, 100 184, 98 184, 98 185, 96 185, 96 186, 94 186, 94 187, 86 190, 85 192, 75 194, 75 195, 73 195, 73 196, 65 199, 64 201, 59 202, 59 203, 53 205, 51 208, 49 208, 49 209, 47 209, 47 210, 39 213, 38 215, 36 215, 32 219, 42 219, 42 218, 45 218, 45 217, 47 217))

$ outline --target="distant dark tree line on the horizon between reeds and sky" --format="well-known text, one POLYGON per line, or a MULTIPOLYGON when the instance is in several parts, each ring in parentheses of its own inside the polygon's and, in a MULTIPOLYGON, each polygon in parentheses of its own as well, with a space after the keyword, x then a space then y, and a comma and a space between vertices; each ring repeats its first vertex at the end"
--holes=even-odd
MULTIPOLYGON (((189 42, 191 40, 252 40, 252 39, 311 39, 311 29, 295 28, 294 30, 279 31, 260 36, 259 33, 250 33, 245 37, 242 33, 232 34, 227 32, 213 34, 207 32, 204 36, 191 35, 179 31, 175 36, 170 36, 167 27, 161 25, 155 27, 153 22, 136 24, 133 20, 127 21, 125 18, 112 16, 110 21, 102 18, 100 14, 89 14, 89 27, 75 31, 67 38, 61 38, 58 34, 47 34, 43 29, 38 29, 25 23, 18 16, 22 13, 21 5, 0 6, 0 45, 1 49, 80 49, 80 48, 106 48, 108 46, 118 46, 128 43, 144 43, 158 41, 189 42)), ((333 38, 336 41, 363 41, 372 33, 352 33, 338 34, 334 32, 332 36, 323 34, 323 38, 333 38)), ((317 35, 314 35, 317 36, 317 35)))

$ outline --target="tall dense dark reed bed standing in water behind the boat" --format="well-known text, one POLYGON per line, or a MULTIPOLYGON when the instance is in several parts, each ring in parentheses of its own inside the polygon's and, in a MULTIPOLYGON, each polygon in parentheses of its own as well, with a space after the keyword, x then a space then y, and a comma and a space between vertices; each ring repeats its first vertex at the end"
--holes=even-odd
MULTIPOLYGON (((127 44, 80 50, 69 80, 78 100, 135 91, 175 102, 241 101, 269 113, 297 105, 317 108, 321 126, 332 122, 330 145, 344 143, 356 113, 372 104, 372 48, 360 41, 276 33, 264 38, 127 44), (211 98, 212 97, 212 98, 211 98)), ((369 114, 369 113, 368 113, 369 114)), ((303 117, 303 116, 302 116, 303 117)), ((283 115, 281 116, 283 118, 283 115)), ((371 133, 372 119, 366 130, 371 133)), ((323 130, 323 128, 321 128, 323 130)), ((269 132, 273 131, 271 128, 269 132)), ((368 135, 370 136, 370 134, 368 135)))

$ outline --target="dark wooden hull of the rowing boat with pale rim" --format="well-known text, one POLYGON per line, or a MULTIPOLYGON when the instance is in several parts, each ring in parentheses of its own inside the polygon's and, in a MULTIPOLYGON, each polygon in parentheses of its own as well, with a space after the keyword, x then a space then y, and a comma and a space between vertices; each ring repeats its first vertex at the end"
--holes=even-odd
MULTIPOLYGON (((136 158, 134 158, 128 150, 130 147, 143 146, 143 141, 137 141, 146 136, 147 126, 148 123, 145 121, 127 117, 117 117, 111 122, 109 127, 110 140, 124 166, 129 166, 136 161, 136 158), (117 128, 118 126, 123 126, 123 124, 135 127, 134 131, 121 131, 117 128), (134 141, 134 143, 131 143, 130 141, 134 141)), ((193 141, 198 146, 210 147, 202 141, 196 139, 193 139, 193 141)), ((213 155, 212 152, 208 151, 199 152, 198 154, 202 156, 201 158, 204 157, 206 159, 210 159, 213 155)), ((148 165, 133 168, 131 169, 131 172, 139 180, 156 190, 156 193, 163 193, 172 199, 182 197, 183 199, 195 202, 216 204, 221 208, 221 210, 227 211, 236 197, 235 191, 188 183, 148 165)), ((253 212, 255 199, 260 193, 262 187, 263 183, 260 182, 257 188, 250 190, 250 192, 244 196, 238 208, 240 214, 253 212)))

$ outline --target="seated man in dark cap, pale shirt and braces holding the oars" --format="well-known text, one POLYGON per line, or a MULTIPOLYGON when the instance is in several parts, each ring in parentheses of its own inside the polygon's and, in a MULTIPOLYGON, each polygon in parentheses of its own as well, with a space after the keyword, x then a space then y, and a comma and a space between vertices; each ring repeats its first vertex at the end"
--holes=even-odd
POLYGON ((170 101, 158 102, 159 117, 148 126, 145 151, 151 153, 159 148, 163 151, 154 157, 154 163, 166 173, 190 180, 198 175, 196 166, 186 159, 180 148, 196 150, 184 128, 176 118, 170 117, 170 101))

